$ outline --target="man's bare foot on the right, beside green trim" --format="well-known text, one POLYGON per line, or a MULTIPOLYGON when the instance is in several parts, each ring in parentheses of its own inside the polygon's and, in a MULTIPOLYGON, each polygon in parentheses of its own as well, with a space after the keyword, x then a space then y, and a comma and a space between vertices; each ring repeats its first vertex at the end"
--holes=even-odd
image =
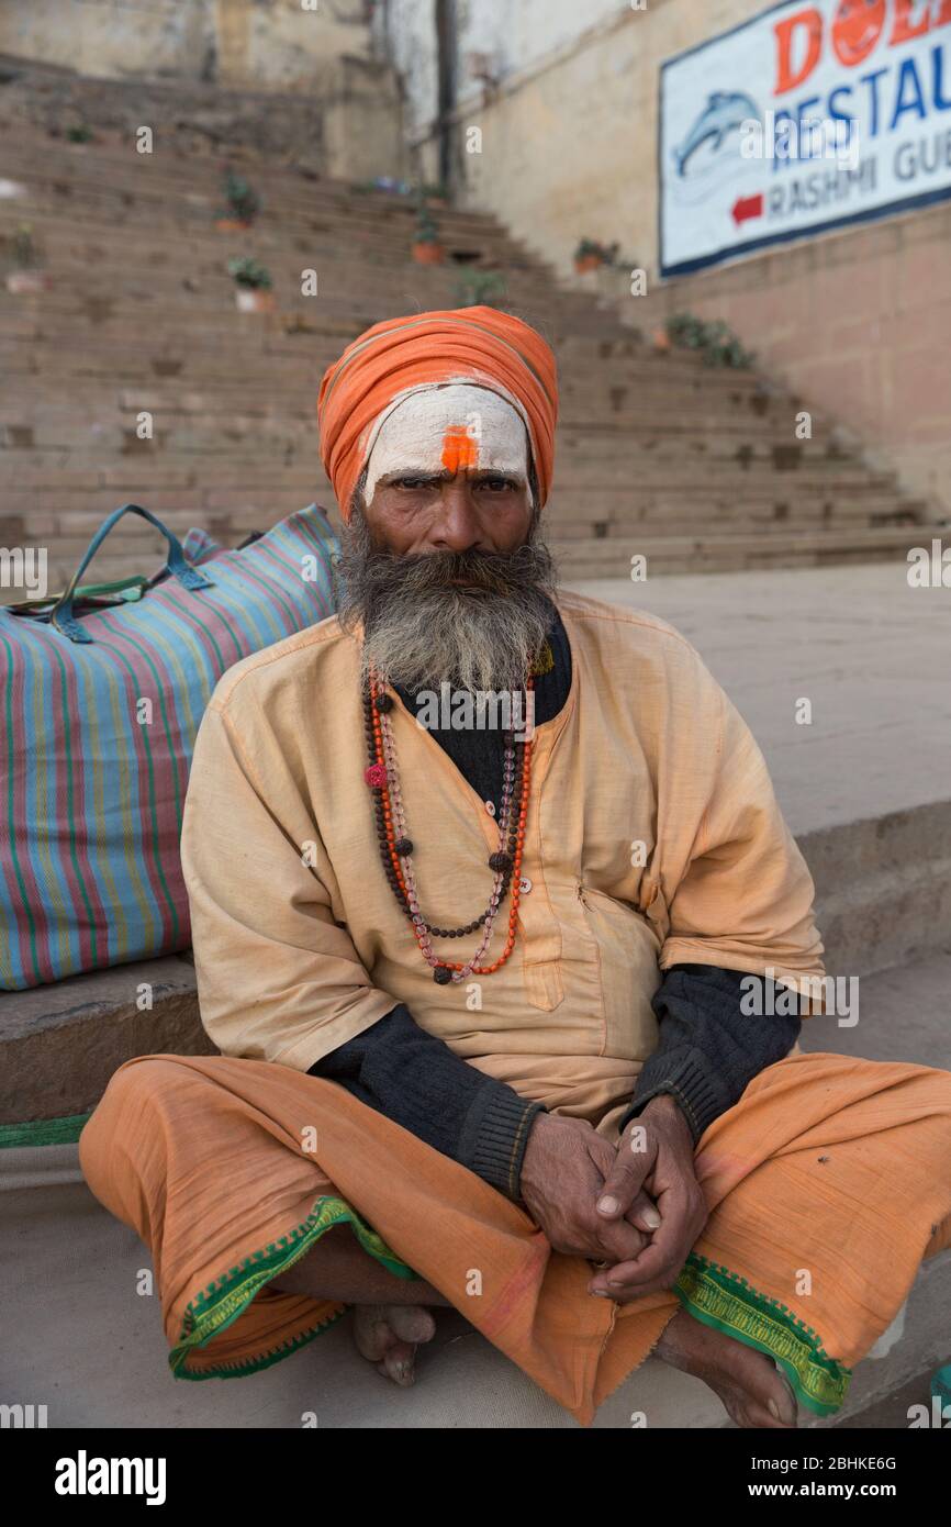
POLYGON ((702 1325, 684 1309, 667 1324, 653 1356, 710 1385, 737 1426, 786 1429, 797 1425, 795 1396, 772 1359, 702 1325))

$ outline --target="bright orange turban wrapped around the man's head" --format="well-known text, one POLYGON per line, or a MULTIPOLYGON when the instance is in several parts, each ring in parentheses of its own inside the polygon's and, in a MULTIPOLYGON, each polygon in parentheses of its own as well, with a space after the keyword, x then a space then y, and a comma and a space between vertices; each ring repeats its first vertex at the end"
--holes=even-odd
POLYGON ((383 409, 408 388, 453 377, 510 392, 522 405, 545 502, 559 412, 554 356, 521 318, 495 307, 461 307, 374 324, 324 373, 318 397, 321 460, 343 519, 350 519, 369 434, 383 409))

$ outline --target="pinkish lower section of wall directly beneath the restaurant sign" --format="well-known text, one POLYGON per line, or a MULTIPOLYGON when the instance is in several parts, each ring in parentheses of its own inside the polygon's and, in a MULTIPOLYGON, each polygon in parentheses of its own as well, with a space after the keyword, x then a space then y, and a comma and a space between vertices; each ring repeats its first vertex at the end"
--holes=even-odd
POLYGON ((951 206, 655 284, 621 310, 725 319, 866 457, 951 510, 951 206))

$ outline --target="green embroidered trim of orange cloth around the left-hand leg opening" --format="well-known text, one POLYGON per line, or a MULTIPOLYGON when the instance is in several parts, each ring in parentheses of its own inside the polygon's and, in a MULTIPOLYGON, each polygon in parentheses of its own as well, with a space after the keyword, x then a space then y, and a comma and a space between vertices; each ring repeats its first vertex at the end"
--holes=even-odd
POLYGON ((343 1223, 351 1226, 363 1251, 376 1257, 397 1278, 418 1278, 418 1274, 412 1267, 408 1267, 405 1261, 400 1261, 386 1241, 360 1219, 345 1199, 321 1197, 304 1223, 296 1225, 290 1235, 281 1235, 279 1240, 272 1241, 264 1251, 256 1251, 250 1257, 246 1257, 240 1267, 232 1267, 217 1283, 209 1283, 189 1303, 182 1321, 179 1345, 172 1347, 168 1354, 168 1364, 174 1377, 237 1379, 249 1373, 260 1373, 261 1368, 270 1368, 272 1364, 281 1362, 282 1358, 289 1358, 299 1347, 319 1336, 321 1332, 334 1325, 347 1313, 345 1310, 330 1315, 311 1330, 302 1332, 292 1341, 284 1342, 281 1347, 273 1347, 258 1358, 220 1364, 215 1368, 203 1368, 201 1373, 189 1373, 186 1368, 188 1354, 192 1348, 208 1347, 215 1336, 220 1336, 223 1330, 238 1319, 266 1283, 279 1272, 285 1272, 287 1267, 293 1267, 319 1241, 321 1235, 334 1225, 343 1223))

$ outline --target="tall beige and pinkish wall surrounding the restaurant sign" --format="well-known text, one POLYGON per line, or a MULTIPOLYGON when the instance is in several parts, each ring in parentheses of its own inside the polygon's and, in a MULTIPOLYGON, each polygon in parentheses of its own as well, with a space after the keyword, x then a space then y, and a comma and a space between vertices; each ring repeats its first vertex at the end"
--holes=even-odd
MULTIPOLYGON (((412 29, 427 79, 424 23, 434 0, 394 0, 391 29, 412 29)), ((540 3, 540 0, 539 0, 540 3)), ((463 202, 499 215, 566 282, 600 289, 624 322, 652 328, 669 312, 724 318, 762 366, 806 406, 852 429, 905 484, 951 510, 951 211, 927 209, 841 231, 661 284, 656 275, 656 89, 664 58, 760 15, 768 0, 649 0, 629 5, 463 6, 461 52, 501 47, 499 82, 459 92, 456 163, 463 202), (550 44, 546 49, 542 44, 550 44), (481 153, 467 134, 481 130, 481 153), (577 278, 579 237, 618 240, 649 275, 632 298, 623 273, 577 278)), ((398 63, 398 58, 397 58, 398 63)), ((415 66, 414 66, 415 69, 415 66)), ((424 99, 408 110, 426 139, 424 99)), ((420 148, 435 169, 432 137, 420 148)))

